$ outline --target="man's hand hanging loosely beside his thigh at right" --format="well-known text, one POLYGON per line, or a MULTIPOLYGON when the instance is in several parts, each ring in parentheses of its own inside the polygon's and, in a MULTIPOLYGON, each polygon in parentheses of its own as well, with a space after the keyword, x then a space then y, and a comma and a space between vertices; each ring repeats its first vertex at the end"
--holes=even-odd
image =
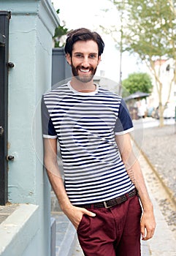
POLYGON ((153 210, 143 212, 140 226, 142 240, 147 241, 148 239, 153 237, 156 228, 156 221, 153 214, 153 210))

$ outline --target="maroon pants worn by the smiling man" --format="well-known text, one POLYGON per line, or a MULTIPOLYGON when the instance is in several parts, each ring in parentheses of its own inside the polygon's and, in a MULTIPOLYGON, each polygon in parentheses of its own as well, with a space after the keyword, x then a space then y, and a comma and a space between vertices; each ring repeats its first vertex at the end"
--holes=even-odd
POLYGON ((86 256, 140 256, 140 217, 137 195, 112 208, 88 208, 77 229, 86 256))

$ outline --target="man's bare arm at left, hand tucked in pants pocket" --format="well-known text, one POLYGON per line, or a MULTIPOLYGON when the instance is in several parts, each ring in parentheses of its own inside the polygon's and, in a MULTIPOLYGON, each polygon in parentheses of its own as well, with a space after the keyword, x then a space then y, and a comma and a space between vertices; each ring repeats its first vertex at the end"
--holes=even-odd
POLYGON ((58 198, 58 203, 60 204, 62 211, 64 211, 64 214, 66 214, 77 229, 83 214, 87 214, 91 217, 94 217, 95 214, 85 208, 72 206, 72 203, 70 203, 58 168, 57 139, 44 139, 44 162, 47 170, 47 176, 50 180, 51 186, 53 187, 53 191, 58 198))

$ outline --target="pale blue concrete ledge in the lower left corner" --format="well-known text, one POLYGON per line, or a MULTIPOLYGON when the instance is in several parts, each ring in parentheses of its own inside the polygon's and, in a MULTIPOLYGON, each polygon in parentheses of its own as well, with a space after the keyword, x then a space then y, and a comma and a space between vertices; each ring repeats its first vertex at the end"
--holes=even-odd
POLYGON ((21 204, 0 225, 0 255, 23 255, 39 230, 39 206, 21 204))

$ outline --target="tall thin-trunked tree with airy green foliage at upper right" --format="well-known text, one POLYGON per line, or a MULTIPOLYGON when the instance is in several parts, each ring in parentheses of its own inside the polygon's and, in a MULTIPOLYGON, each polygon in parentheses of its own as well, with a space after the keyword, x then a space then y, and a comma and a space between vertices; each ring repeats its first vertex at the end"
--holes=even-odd
MULTIPOLYGON (((123 20, 123 51, 137 53, 144 61, 156 81, 160 126, 164 125, 163 112, 170 97, 172 84, 176 80, 176 12, 173 0, 110 0, 123 20), (162 99, 160 78, 163 59, 173 59, 172 79, 168 84, 167 101, 162 99), (156 61, 159 63, 156 69, 156 61)), ((113 33, 114 31, 112 31, 113 33)), ((113 36, 114 37, 114 36, 113 36)), ((118 41, 116 41, 118 42, 118 41)), ((118 42, 120 45, 120 42, 118 42)))

